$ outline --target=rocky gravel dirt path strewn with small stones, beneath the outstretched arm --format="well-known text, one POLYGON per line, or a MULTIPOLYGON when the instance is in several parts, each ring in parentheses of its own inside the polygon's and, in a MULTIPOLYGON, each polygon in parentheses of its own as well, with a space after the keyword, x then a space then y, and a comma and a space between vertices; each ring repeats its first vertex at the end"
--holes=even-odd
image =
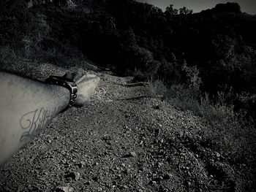
MULTIPOLYGON (((65 70, 37 66, 37 77, 65 70), (50 70, 48 70, 50 69, 50 70)), ((0 167, 0 191, 239 191, 202 147, 203 123, 105 72, 91 104, 72 108, 0 167)))

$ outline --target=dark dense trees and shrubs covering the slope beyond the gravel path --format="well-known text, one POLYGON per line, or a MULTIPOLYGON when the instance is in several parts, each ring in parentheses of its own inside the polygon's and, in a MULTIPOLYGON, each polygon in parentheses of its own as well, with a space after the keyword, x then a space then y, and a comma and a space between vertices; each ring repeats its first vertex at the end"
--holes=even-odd
POLYGON ((151 81, 152 96, 162 91, 206 120, 202 142, 255 166, 255 15, 236 3, 193 14, 133 0, 31 2, 0 2, 1 63, 68 67, 86 55, 102 69, 151 81))

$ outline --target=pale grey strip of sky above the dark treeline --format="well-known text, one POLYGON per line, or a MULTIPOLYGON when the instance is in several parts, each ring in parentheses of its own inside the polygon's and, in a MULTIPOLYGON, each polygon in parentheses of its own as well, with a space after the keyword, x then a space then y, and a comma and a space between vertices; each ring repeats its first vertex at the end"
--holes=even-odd
MULTIPOLYGON (((165 11, 165 7, 173 4, 176 9, 187 7, 193 9, 193 12, 200 12, 203 9, 210 9, 219 3, 227 3, 225 0, 137 0, 140 2, 147 2, 154 4, 154 6, 165 11)), ((237 2, 241 6, 242 12, 256 14, 256 0, 231 0, 230 2, 237 2)))

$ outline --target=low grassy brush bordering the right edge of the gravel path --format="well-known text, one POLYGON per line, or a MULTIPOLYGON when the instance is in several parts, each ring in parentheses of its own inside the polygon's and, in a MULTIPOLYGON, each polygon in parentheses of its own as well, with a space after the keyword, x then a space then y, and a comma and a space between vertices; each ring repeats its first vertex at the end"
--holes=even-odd
POLYGON ((208 94, 200 96, 195 88, 172 85, 165 96, 174 107, 190 110, 206 122, 205 128, 199 132, 203 145, 219 151, 234 164, 254 162, 255 124, 253 120, 246 120, 244 112, 234 112, 233 106, 225 103, 221 93, 213 103, 208 94))

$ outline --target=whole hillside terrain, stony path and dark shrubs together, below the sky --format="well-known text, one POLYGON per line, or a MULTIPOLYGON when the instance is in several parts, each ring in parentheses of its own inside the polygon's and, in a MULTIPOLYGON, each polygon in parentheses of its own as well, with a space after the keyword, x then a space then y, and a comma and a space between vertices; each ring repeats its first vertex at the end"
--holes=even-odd
POLYGON ((255 191, 255 26, 236 3, 0 1, 0 70, 101 77, 1 166, 0 191, 255 191))

